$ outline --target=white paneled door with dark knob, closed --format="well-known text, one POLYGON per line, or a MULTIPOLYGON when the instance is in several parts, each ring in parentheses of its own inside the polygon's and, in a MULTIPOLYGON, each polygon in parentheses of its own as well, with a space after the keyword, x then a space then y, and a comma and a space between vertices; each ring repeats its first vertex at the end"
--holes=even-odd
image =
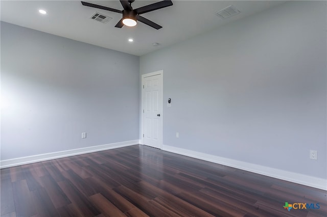
POLYGON ((142 75, 143 145, 162 147, 162 71, 142 75))

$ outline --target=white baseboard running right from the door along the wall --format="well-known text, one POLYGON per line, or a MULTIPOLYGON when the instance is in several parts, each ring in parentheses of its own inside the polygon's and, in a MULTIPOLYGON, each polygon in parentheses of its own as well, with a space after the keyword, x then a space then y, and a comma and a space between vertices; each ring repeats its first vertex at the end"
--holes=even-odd
POLYGON ((163 145, 162 150, 206 160, 209 162, 215 162, 216 164, 221 164, 221 165, 225 165, 225 166, 229 166, 229 167, 233 167, 233 168, 237 168, 237 169, 241 169, 241 170, 245 170, 265 176, 270 176, 273 178, 282 179, 298 184, 303 184, 303 185, 307 185, 310 187, 315 187, 327 191, 327 180, 322 178, 317 178, 317 177, 293 173, 285 170, 279 170, 275 168, 251 164, 240 160, 219 157, 211 154, 191 151, 188 149, 176 148, 168 145, 163 145))

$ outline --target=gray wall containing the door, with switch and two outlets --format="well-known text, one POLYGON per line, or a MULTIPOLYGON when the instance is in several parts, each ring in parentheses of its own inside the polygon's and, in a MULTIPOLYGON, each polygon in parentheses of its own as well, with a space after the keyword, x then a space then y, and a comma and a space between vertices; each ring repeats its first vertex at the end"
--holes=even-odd
POLYGON ((164 70, 165 145, 326 179, 326 58, 326 2, 288 2, 145 55, 140 72, 164 70))

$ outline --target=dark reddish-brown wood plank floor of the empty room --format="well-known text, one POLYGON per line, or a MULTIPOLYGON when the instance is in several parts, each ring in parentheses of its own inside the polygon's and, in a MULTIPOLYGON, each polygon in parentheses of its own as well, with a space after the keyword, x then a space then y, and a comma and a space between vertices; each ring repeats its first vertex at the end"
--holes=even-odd
POLYGON ((326 191, 147 146, 1 170, 1 216, 327 216, 326 191), (319 209, 283 208, 319 203, 319 209))

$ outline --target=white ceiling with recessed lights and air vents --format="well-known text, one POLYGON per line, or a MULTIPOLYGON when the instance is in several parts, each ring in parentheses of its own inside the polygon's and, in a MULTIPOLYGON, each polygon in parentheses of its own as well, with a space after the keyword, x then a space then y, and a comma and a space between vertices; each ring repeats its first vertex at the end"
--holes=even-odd
MULTIPOLYGON (((110 8, 123 10, 118 0, 86 1, 110 8)), ((159 1, 136 0, 134 9, 159 1)), ((146 53, 173 45, 187 38, 218 28, 219 25, 242 19, 259 13, 285 1, 181 1, 172 0, 173 6, 145 13, 142 16, 163 26, 155 30, 138 22, 134 27, 122 29, 114 25, 122 14, 96 8, 85 7, 80 1, 0 1, 1 20, 30 29, 82 41, 89 44, 118 50, 132 55, 146 53), (221 19, 215 13, 233 5, 240 14, 221 19), (38 13, 39 9, 48 12, 38 13), (112 19, 103 24, 90 19, 95 12, 105 14, 112 19), (133 38, 134 42, 128 42, 133 38), (157 42, 160 45, 153 46, 157 42)))

